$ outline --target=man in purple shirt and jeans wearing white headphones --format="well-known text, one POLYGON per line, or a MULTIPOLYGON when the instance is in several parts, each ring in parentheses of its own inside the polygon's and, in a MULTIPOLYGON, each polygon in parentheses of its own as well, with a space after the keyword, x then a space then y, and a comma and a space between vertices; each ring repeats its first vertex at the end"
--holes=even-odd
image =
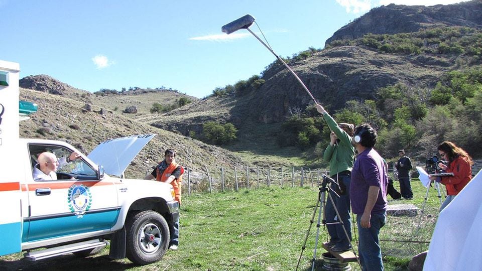
POLYGON ((358 153, 351 171, 351 210, 356 214, 358 254, 363 270, 383 270, 378 235, 387 211, 387 168, 373 149, 377 131, 370 124, 356 127, 353 145, 358 153))

